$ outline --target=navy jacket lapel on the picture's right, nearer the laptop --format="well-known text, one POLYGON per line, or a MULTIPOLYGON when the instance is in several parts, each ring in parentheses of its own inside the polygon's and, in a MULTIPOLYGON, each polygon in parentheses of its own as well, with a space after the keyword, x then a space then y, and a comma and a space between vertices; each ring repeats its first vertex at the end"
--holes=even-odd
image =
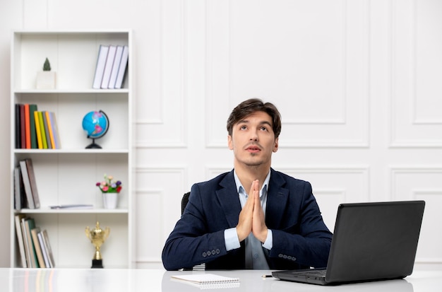
POLYGON ((271 229, 280 226, 282 215, 285 213, 285 207, 289 199, 289 190, 284 187, 284 178, 275 172, 275 170, 271 169, 270 171, 267 207, 265 209, 265 224, 271 229), (268 214, 272 215, 267 216, 268 214))

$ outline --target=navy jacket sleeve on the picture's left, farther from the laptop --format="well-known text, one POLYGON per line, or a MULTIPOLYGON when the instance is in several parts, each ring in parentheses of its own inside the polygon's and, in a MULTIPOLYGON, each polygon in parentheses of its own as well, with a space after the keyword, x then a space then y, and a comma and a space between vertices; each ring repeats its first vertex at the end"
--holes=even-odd
POLYGON ((189 203, 162 250, 162 263, 167 270, 193 267, 227 254, 224 229, 209 230, 201 192, 191 188, 189 203))

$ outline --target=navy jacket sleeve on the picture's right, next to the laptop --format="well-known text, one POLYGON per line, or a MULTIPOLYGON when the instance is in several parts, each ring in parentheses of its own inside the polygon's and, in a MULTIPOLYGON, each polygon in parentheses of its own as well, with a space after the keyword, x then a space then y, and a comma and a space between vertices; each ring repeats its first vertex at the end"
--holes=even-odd
POLYGON ((269 257, 275 262, 297 262, 307 267, 327 267, 332 233, 323 222, 321 211, 313 197, 311 185, 304 182, 302 196, 291 198, 289 215, 282 226, 271 228, 273 248, 269 257), (295 202, 293 202, 295 201, 295 202), (298 216, 293 216, 297 213, 298 216))

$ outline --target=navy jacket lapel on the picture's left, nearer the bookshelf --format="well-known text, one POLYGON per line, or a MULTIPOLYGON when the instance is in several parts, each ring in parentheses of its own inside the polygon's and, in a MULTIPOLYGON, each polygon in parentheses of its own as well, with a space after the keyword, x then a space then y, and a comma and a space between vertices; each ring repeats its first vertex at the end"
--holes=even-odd
POLYGON ((230 227, 238 225, 239 212, 241 212, 241 203, 239 202, 237 185, 233 177, 233 170, 228 173, 220 182, 222 188, 216 191, 218 202, 224 211, 225 218, 230 227))

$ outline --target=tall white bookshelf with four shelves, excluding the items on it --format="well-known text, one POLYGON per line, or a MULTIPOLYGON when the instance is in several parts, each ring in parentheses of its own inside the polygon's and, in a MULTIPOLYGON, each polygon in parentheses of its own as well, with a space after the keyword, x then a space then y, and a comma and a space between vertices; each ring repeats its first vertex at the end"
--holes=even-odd
POLYGON ((133 49, 130 30, 16 31, 11 43, 11 267, 21 267, 14 215, 27 214, 46 229, 56 267, 90 267, 94 247, 85 228, 96 221, 110 235, 102 245, 104 268, 132 266, 133 253, 133 49), (126 81, 121 89, 92 89, 100 45, 129 45, 126 81), (46 57, 56 72, 56 88, 35 89, 37 71, 46 57), (21 149, 15 145, 15 104, 35 103, 52 111, 59 127, 61 148, 21 149), (109 131, 92 141, 83 131, 87 112, 103 110, 109 131), (14 209, 13 169, 31 158, 35 169, 40 209, 14 209), (117 209, 103 209, 95 183, 104 173, 121 180, 117 209), (93 209, 54 210, 59 204, 92 204, 93 209))

